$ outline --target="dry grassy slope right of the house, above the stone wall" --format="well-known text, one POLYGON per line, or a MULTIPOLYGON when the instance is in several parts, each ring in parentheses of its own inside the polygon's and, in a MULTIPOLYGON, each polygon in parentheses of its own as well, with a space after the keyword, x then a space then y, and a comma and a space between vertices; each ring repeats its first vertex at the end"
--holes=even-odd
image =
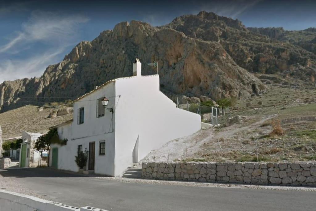
POLYGON ((292 89, 284 85, 287 79, 277 75, 271 78, 279 81, 267 85, 269 91, 264 96, 238 100, 230 113, 219 117, 221 126, 172 140, 150 152, 139 164, 257 161, 257 148, 259 161, 315 161, 316 90, 292 89), (273 126, 274 122, 280 122, 279 126, 273 126), (283 133, 273 133, 274 128, 281 128, 283 133))

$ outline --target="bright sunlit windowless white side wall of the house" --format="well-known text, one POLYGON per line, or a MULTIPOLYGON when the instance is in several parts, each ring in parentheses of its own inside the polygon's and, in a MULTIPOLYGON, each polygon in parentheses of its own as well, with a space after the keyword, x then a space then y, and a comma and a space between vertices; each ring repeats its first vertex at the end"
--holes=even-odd
POLYGON ((115 176, 133 163, 139 135, 138 160, 170 140, 197 132, 200 115, 177 109, 159 90, 159 76, 137 76, 116 80, 121 95, 115 110, 115 176))

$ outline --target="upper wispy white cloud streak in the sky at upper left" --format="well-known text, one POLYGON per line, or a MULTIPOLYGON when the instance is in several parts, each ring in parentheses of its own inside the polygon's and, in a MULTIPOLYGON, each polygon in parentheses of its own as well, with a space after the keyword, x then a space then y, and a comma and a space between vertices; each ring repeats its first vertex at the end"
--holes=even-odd
MULTIPOLYGON (((37 41, 65 42, 76 34, 78 24, 89 19, 81 15, 63 15, 59 13, 34 11, 27 22, 22 24, 22 30, 7 44, 0 47, 0 53, 20 45, 27 45, 37 41)), ((16 49, 15 49, 16 50, 16 49)))

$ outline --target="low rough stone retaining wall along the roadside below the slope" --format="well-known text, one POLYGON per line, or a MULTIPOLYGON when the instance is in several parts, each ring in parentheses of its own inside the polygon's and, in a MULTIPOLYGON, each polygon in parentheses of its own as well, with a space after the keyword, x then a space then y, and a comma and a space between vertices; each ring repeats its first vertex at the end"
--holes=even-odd
POLYGON ((316 186, 313 163, 143 163, 143 179, 316 186))

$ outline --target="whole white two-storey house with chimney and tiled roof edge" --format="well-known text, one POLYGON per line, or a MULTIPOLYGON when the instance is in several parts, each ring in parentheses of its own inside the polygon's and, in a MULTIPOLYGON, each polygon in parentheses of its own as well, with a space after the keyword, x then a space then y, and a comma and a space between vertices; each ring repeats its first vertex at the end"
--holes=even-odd
POLYGON ((86 170, 120 176, 151 150, 201 128, 200 115, 177 109, 159 90, 159 75, 141 75, 138 59, 132 77, 110 80, 73 106, 73 121, 57 126, 67 145, 52 145, 50 152, 50 165, 63 170, 78 171, 75 156, 86 149, 86 170))

